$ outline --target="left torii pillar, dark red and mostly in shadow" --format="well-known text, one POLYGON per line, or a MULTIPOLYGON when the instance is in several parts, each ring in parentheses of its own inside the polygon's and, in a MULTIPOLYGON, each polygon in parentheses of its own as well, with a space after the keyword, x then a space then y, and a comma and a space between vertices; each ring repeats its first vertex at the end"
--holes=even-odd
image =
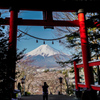
POLYGON ((13 79, 15 79, 15 68, 16 68, 17 18, 18 18, 18 10, 12 7, 10 9, 10 33, 9 33, 10 62, 9 63, 11 70, 9 74, 13 79))

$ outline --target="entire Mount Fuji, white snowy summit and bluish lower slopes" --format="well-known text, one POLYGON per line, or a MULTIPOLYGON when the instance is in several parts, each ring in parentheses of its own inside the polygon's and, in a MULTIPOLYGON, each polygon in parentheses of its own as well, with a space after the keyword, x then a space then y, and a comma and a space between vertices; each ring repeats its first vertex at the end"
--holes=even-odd
POLYGON ((56 50, 47 44, 28 52, 24 57, 24 59, 33 60, 31 62, 32 66, 47 68, 59 67, 60 65, 56 61, 67 61, 69 58, 70 55, 56 50))

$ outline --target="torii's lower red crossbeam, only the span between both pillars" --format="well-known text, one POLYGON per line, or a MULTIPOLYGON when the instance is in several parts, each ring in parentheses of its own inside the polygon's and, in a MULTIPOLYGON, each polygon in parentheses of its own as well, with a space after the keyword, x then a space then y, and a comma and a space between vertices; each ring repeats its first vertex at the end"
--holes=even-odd
POLYGON ((76 26, 78 21, 45 21, 45 20, 20 20, 18 25, 35 25, 35 26, 76 26))

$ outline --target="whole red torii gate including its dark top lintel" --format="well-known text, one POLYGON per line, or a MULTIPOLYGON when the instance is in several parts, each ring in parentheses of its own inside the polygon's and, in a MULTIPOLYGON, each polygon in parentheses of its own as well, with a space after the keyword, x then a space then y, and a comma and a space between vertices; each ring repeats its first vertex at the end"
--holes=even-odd
MULTIPOLYGON (((55 0, 56 1, 56 0, 55 0)), ((18 25, 32 25, 32 26, 66 26, 66 27, 80 27, 80 39, 82 47, 82 57, 83 57, 83 67, 85 74, 85 86, 78 85, 78 71, 75 68, 75 81, 76 89, 79 87, 86 87, 87 89, 91 88, 91 82, 93 83, 93 77, 90 80, 89 76, 92 75, 90 67, 88 64, 88 39, 86 32, 86 22, 85 22, 85 12, 94 12, 99 11, 98 0, 57 0, 56 3, 54 0, 45 0, 41 1, 20 1, 20 0, 4 0, 0 2, 0 9, 10 9, 10 18, 5 18, 0 22, 1 25, 10 25, 9 33, 9 49, 11 51, 10 55, 16 55, 16 44, 17 44, 17 26, 18 25), (5 4, 6 2, 6 4, 5 4), (40 4, 39 4, 40 3, 40 4), (70 6, 69 6, 70 4, 70 6), (82 9, 81 9, 82 8, 82 9), (18 12, 20 10, 35 10, 43 11, 45 13, 44 20, 26 20, 18 18, 18 12), (57 21, 52 19, 53 11, 66 11, 66 12, 77 12, 78 11, 78 20, 74 21, 57 21)), ((76 62, 74 62, 76 66, 76 62)), ((12 65, 12 76, 15 78, 15 62, 12 65)))

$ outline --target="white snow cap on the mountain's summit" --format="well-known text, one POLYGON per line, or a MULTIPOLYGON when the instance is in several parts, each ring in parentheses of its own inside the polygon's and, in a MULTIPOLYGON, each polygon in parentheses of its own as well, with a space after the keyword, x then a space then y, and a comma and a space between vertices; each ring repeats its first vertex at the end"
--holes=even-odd
POLYGON ((27 56, 37 56, 37 55, 41 55, 41 56, 52 56, 55 54, 60 54, 60 51, 50 47, 49 45, 41 45, 38 48, 32 50, 31 52, 27 53, 27 56))

